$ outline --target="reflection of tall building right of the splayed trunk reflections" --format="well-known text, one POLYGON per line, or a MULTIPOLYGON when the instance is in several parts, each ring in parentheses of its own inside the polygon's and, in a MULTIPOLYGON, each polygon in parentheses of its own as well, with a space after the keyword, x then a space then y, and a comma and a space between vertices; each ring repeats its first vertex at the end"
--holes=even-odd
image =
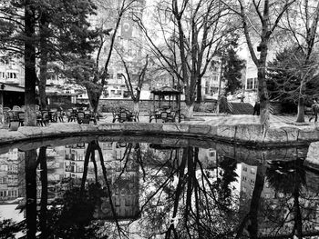
MULTIPOLYGON (((100 145, 103 155, 108 155, 104 162, 118 219, 139 217, 139 164, 133 157, 135 144, 103 142, 100 145)), ((102 219, 114 218, 109 198, 102 198, 94 216, 102 219)))

